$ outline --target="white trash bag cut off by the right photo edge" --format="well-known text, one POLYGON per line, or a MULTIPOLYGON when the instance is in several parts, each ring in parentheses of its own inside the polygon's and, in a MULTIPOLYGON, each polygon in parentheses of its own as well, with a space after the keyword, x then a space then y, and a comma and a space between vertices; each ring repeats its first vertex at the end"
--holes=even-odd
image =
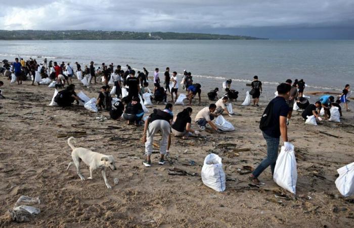
POLYGON ((337 169, 336 187, 342 196, 354 195, 354 162, 337 169))

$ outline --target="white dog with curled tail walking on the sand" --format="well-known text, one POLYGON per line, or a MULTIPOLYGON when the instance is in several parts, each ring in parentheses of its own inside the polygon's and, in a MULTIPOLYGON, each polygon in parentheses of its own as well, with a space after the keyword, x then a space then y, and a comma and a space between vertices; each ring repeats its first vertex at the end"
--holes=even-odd
POLYGON ((70 162, 68 165, 68 170, 72 164, 75 165, 76 170, 77 170, 77 175, 81 178, 81 180, 85 180, 85 178, 82 176, 80 173, 80 162, 83 161, 86 165, 90 166, 90 177, 87 179, 92 179, 92 173, 96 169, 101 169, 103 179, 105 180, 105 184, 108 188, 112 188, 111 185, 109 185, 106 177, 106 168, 110 168, 112 171, 117 170, 117 168, 114 165, 114 158, 113 156, 110 155, 103 155, 96 153, 94 151, 91 151, 90 149, 86 149, 83 147, 77 147, 73 146, 71 143, 73 141, 76 143, 74 137, 70 137, 68 139, 68 144, 72 148, 71 152, 71 157, 73 162, 70 162))

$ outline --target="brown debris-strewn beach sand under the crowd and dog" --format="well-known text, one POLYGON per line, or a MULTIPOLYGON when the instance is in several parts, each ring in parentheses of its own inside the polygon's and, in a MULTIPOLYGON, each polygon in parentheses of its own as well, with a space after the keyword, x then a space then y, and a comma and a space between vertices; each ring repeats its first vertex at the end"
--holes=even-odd
MULTIPOLYGON (((353 226, 354 198, 342 198, 336 189, 336 169, 353 162, 354 120, 344 111, 342 123, 304 125, 294 113, 289 138, 296 147, 297 195, 274 183, 270 168, 259 177, 264 186, 249 185, 243 166, 255 167, 265 156, 265 141, 258 129, 266 102, 259 108, 233 102, 241 116, 226 117, 234 132, 209 134, 182 140, 172 137, 171 162, 159 166, 158 154, 152 167, 142 165, 143 127, 125 121, 100 122, 108 112, 93 113, 83 106, 62 109, 48 106, 54 89, 47 86, 2 88, 8 98, 0 100, 0 214, 1 226, 11 227, 349 227, 353 226), (108 126, 119 127, 119 129, 108 126), (59 134, 86 132, 76 137, 77 146, 113 155, 118 170, 107 171, 113 188, 107 189, 101 172, 93 180, 81 181, 71 161, 67 137, 59 134), (327 132, 326 135, 321 132, 327 132), (337 137, 335 137, 337 136, 337 137), (223 145, 234 143, 235 145, 223 145), (249 148, 238 151, 237 149, 249 148), (227 187, 217 193, 200 177, 205 156, 223 159, 227 187), (195 165, 190 165, 190 161, 195 165), (176 167, 196 176, 169 175, 176 167), (244 172, 243 170, 241 172, 244 172), (113 179, 118 178, 118 184, 113 179), (21 195, 39 197, 41 213, 27 223, 8 221, 6 214, 21 195)), ((86 89, 76 83, 76 92, 97 97, 101 84, 86 89)), ((196 101, 195 101, 196 102, 196 101)), ((202 104, 208 105, 204 96, 202 104)), ((196 103, 194 103, 196 104, 196 103)), ((162 105, 149 107, 162 108, 162 105)), ((194 119, 203 106, 193 105, 194 119)), ((178 113, 183 106, 175 106, 178 113)), ((192 125, 196 128, 196 125, 192 125)), ((159 137, 156 137, 158 139, 159 137)), ((157 150, 156 150, 157 151, 157 150)), ((87 166, 81 164, 85 177, 87 166)))

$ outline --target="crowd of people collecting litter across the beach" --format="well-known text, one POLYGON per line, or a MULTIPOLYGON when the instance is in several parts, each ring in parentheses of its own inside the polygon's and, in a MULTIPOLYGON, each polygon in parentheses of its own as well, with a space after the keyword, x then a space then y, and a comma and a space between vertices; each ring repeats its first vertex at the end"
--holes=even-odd
MULTIPOLYGON (((182 89, 187 93, 188 106, 192 105, 192 100, 197 94, 198 104, 201 104, 202 86, 193 81, 191 72, 184 70, 180 83, 178 73, 173 71, 170 75, 170 69, 166 67, 164 84, 161 85, 159 68, 156 68, 153 79, 151 79, 154 84, 152 92, 149 89, 149 72, 145 67, 143 67, 142 71, 136 72, 129 65, 126 65, 126 70, 123 70, 120 65, 114 67, 113 63, 108 66, 102 63, 98 68, 95 67, 94 61, 91 61, 89 66, 85 65, 84 68, 81 68, 81 65, 77 62, 75 64, 76 71, 74 71, 70 63, 65 64, 61 62, 59 65, 57 62, 49 61, 47 64, 47 59, 45 59, 39 65, 35 59, 24 61, 22 58, 16 58, 12 66, 9 65, 9 68, 16 75, 18 85, 21 85, 23 80, 27 80, 27 76, 32 78, 32 85, 34 85, 35 71, 40 72, 42 79, 49 77, 52 80, 56 80, 56 86, 59 88, 67 84, 67 87, 55 96, 55 102, 61 107, 70 106, 75 101, 77 104, 80 101, 84 102, 77 96, 75 85, 72 84, 72 78, 75 73, 80 72, 82 77, 87 78, 87 82, 90 85, 93 79, 94 84, 97 84, 99 83, 97 78, 101 78, 104 85, 101 87, 97 98, 97 107, 100 110, 109 111, 110 117, 114 120, 124 119, 128 125, 144 126, 142 141, 145 143, 146 160, 143 164, 146 167, 151 166, 153 139, 157 132, 161 132, 162 135, 159 147, 161 157, 158 164, 163 165, 165 163, 165 156, 168 156, 171 134, 175 137, 187 139, 191 135, 199 135, 200 131, 206 129, 206 125, 209 125, 215 133, 218 132, 219 130, 212 120, 220 115, 232 117, 233 113, 228 110, 227 104, 230 101, 237 101, 238 99, 238 92, 231 87, 231 79, 223 83, 223 95, 219 96, 220 91, 218 88, 208 92, 207 95, 211 103, 197 112, 194 122, 199 129, 194 130, 191 119, 192 107, 184 108, 177 115, 173 114, 173 103, 178 100, 179 86, 182 86, 182 89), (114 93, 111 92, 112 87, 109 85, 109 82, 113 82, 113 86, 115 87, 114 93), (146 93, 150 93, 150 98, 157 103, 163 102, 165 108, 154 109, 151 115, 143 121, 145 112, 141 99, 144 97, 143 94, 146 93), (112 96, 115 96, 118 100, 113 102, 112 96), (169 102, 167 102, 167 96, 171 98, 169 102)), ((8 77, 11 78, 10 76, 8 77)), ((4 83, 0 82, 0 87, 3 85, 4 83)), ((258 107, 259 97, 263 90, 262 83, 258 80, 257 75, 253 77, 250 86, 251 90, 249 94, 252 96, 253 106, 258 107)), ((263 113, 260 124, 263 137, 267 142, 267 158, 249 176, 250 181, 258 184, 258 176, 268 166, 271 166, 272 173, 274 172, 280 137, 282 137, 285 148, 290 149, 287 126, 290 123, 295 105, 299 109, 302 109, 301 116, 304 120, 311 116, 315 116, 319 121, 328 119, 331 115, 331 107, 338 107, 340 115, 342 115, 340 103, 343 103, 345 109, 349 110, 347 106, 349 85, 345 85, 344 90, 337 99, 332 95, 323 95, 314 104, 310 104, 309 100, 304 97, 305 86, 305 82, 302 79, 296 79, 294 82, 288 79, 278 85, 278 95, 265 108, 265 115, 263 113), (321 109, 324 109, 323 118, 320 117, 321 109), (267 120, 263 120, 264 118, 267 118, 267 120)))

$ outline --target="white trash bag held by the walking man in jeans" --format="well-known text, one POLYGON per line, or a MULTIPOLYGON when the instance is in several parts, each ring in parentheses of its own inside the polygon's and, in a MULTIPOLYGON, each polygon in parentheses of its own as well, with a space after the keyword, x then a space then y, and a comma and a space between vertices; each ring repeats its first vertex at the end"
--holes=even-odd
POLYGON ((282 188, 296 194, 297 171, 294 145, 290 151, 285 151, 285 146, 282 146, 275 165, 273 179, 282 188))

